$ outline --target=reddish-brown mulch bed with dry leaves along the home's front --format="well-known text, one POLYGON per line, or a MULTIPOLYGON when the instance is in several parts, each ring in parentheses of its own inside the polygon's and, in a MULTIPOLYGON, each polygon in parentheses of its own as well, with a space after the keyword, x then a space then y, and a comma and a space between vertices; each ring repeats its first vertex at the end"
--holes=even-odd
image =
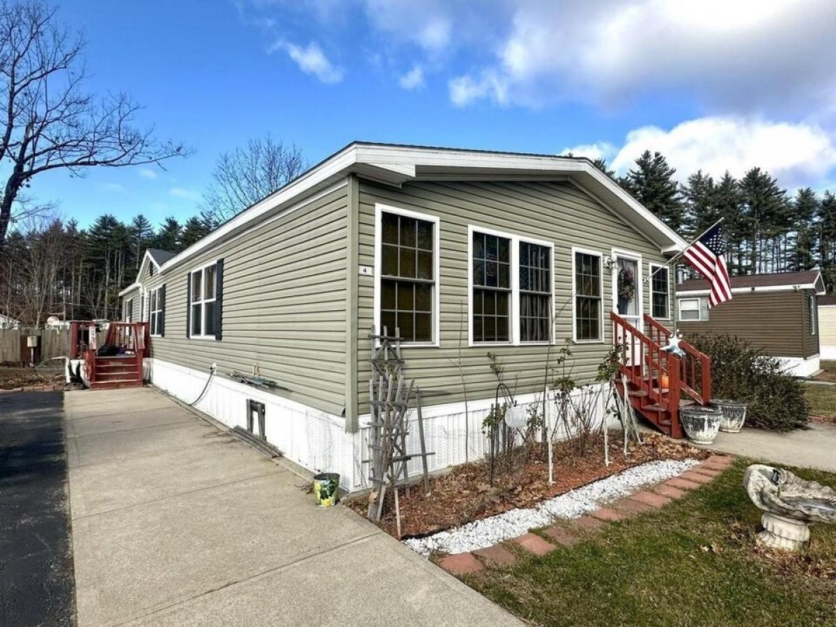
MULTIPOLYGON (((496 472, 494 485, 488 483, 487 461, 480 460, 456 466, 446 474, 431 477, 429 496, 421 486, 414 486, 410 494, 400 492, 401 538, 423 537, 458 527, 465 523, 507 512, 515 507, 533 507, 538 502, 557 497, 604 477, 609 477, 631 466, 647 461, 705 459, 706 451, 689 446, 686 441, 672 441, 657 434, 644 436, 645 444, 630 446, 624 456, 623 442, 610 442, 610 465, 604 466, 604 443, 594 442, 584 454, 577 454, 568 443, 555 445, 553 451, 553 485, 548 485, 548 462, 543 448, 534 446, 528 456, 520 458, 516 467, 496 472)), ((520 451, 520 455, 523 451, 520 451)), ((365 515, 368 501, 364 497, 344 502, 365 515)), ((389 505, 387 503, 387 505, 389 505)), ((378 526, 396 536, 394 507, 378 526)))

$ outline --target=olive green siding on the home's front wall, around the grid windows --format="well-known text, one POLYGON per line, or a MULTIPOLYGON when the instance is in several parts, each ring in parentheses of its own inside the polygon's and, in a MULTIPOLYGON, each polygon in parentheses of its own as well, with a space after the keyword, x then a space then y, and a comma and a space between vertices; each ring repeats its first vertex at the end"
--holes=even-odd
MULTIPOLYGON (((543 373, 548 346, 467 346, 467 227, 473 225, 553 242, 555 344, 551 358, 557 356, 563 340, 572 337, 571 302, 572 247, 582 247, 609 255, 612 248, 642 255, 640 281, 647 276, 648 264, 665 263, 660 247, 610 212, 584 191, 565 182, 410 182, 400 188, 361 181, 359 193, 359 264, 375 264, 375 203, 421 212, 440 219, 441 263, 436 288, 441 289, 440 347, 405 347, 405 375, 415 377, 425 403, 451 403, 463 400, 458 370, 451 362, 458 358, 461 344, 467 394, 470 400, 492 398, 497 386, 487 353, 500 356, 506 365, 505 380, 517 394, 543 390, 543 373), (461 336, 461 340, 460 340, 461 336)), ((650 313, 650 292, 642 281, 645 313, 650 313)), ((671 292, 672 294, 672 292, 671 292)), ((612 309, 612 282, 604 268, 604 342, 576 344, 572 347, 572 376, 579 381, 594 379, 598 364, 612 344, 609 311, 612 309)), ((359 413, 369 411, 370 339, 373 324, 374 279, 359 277, 359 413)))

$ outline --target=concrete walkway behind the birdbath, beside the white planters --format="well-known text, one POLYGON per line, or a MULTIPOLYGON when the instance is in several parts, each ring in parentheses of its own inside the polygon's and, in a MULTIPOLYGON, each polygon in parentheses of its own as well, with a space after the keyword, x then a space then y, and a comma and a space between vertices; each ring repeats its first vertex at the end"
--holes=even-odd
POLYGON ((810 423, 810 429, 775 433, 743 429, 740 433, 717 434, 710 451, 773 461, 788 466, 836 472, 836 425, 810 423))

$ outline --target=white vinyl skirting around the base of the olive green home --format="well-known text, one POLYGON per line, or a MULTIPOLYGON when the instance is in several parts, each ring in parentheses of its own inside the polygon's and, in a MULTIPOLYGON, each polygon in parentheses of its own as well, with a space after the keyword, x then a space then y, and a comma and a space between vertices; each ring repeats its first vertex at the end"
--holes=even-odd
MULTIPOLYGON (((150 381, 157 388, 177 399, 191 403, 201 394, 208 372, 171 364, 161 359, 150 359, 150 381)), ((586 390, 598 390, 590 386, 586 390)), ((589 393, 589 392, 588 392, 589 393)), ((580 394, 579 390, 575 394, 580 394)), ((195 408, 228 427, 247 426, 247 400, 265 405, 264 433, 283 455, 313 472, 339 472, 340 485, 347 490, 368 487, 368 467, 362 460, 368 456, 369 415, 360 415, 360 429, 345 431, 341 416, 326 413, 294 400, 258 390, 249 385, 216 376, 195 408)), ((593 421, 600 425, 604 416, 604 394, 595 397, 593 421)), ((428 458, 430 471, 476 460, 486 455, 487 441, 482 435, 482 421, 490 411, 493 399, 464 403, 426 406, 424 432, 426 449, 435 453, 428 458), (467 438, 465 432, 467 431, 467 438), (465 455, 467 442, 467 455, 465 455)), ((517 403, 529 405, 542 402, 542 395, 520 395, 517 403)), ((554 407, 554 405, 552 405, 554 407)), ((552 410, 551 415, 557 415, 552 410)), ((410 438, 407 449, 419 451, 418 428, 414 424, 415 410, 410 414, 410 438)), ((610 418, 610 421, 614 421, 610 418)), ((560 433, 562 429, 556 428, 560 433)), ((420 459, 410 461, 410 476, 421 472, 420 459)))

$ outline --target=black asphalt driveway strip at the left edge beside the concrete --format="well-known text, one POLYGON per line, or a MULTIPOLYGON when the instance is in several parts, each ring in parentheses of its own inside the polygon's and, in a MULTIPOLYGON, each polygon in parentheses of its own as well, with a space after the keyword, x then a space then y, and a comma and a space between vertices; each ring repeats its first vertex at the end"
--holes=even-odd
POLYGON ((0 395, 0 624, 71 625, 61 392, 0 395))

